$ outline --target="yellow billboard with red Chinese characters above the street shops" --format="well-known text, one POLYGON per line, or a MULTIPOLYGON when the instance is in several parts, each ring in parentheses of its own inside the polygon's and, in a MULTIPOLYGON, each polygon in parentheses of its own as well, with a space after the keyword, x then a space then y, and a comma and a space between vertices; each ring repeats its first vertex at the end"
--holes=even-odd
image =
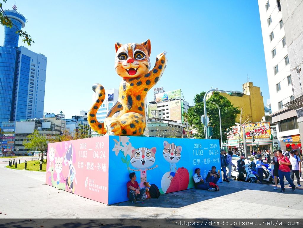
POLYGON ((269 122, 245 124, 246 138, 271 138, 269 122))

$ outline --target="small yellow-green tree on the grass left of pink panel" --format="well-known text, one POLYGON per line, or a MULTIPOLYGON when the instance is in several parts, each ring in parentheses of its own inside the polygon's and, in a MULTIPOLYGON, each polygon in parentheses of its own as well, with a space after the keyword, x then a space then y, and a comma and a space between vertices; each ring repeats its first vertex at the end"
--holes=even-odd
POLYGON ((43 158, 43 152, 47 150, 48 140, 45 136, 39 134, 38 130, 26 137, 27 141, 23 141, 25 149, 37 150, 42 152, 41 159, 43 158))

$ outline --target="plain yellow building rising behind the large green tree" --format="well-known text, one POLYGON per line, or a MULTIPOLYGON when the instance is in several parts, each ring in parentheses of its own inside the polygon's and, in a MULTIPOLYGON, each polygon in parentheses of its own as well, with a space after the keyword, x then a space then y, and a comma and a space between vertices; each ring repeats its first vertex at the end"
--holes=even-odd
POLYGON ((252 82, 243 84, 243 97, 230 96, 225 93, 220 93, 222 96, 230 100, 234 107, 238 107, 241 114, 236 117, 236 123, 251 121, 252 123, 262 121, 264 113, 263 97, 261 96, 260 87, 253 86, 252 82))

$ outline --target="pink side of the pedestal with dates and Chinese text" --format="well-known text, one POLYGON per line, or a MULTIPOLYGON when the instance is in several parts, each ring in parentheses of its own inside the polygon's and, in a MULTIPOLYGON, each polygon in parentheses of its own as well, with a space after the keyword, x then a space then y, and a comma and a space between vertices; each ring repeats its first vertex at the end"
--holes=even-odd
POLYGON ((46 184, 108 203, 108 136, 48 144, 46 184))

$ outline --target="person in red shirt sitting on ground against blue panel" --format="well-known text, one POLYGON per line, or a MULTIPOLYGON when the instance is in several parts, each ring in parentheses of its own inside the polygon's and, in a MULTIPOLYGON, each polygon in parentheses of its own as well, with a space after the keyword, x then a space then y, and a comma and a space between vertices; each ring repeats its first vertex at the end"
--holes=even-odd
POLYGON ((126 183, 127 187, 127 198, 132 201, 132 203, 137 203, 137 199, 142 201, 146 199, 146 189, 140 189, 138 182, 136 181, 137 177, 135 172, 131 172, 129 174, 129 178, 131 179, 126 183))

